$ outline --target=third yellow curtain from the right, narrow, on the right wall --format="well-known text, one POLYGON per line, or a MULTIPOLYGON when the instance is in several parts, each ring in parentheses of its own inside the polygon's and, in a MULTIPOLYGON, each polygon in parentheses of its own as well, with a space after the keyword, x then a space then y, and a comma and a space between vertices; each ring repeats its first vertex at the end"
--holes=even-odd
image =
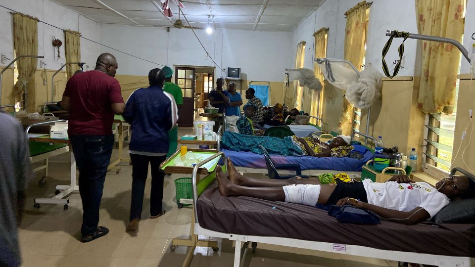
MULTIPOLYGON (((327 56, 327 38, 328 38, 328 28, 322 28, 316 31, 313 36, 315 37, 315 58, 324 58, 327 56)), ((323 85, 324 76, 322 70, 319 67, 319 64, 313 64, 313 71, 315 73, 315 77, 317 77, 323 85)), ((323 89, 322 89, 323 90, 323 89)), ((312 90, 312 106, 310 109, 310 114, 320 118, 320 110, 318 110, 318 101, 321 100, 319 95, 322 95, 322 90, 315 91, 312 90)), ((321 102, 321 101, 320 101, 321 102)), ((320 105, 320 109, 321 109, 320 105)), ((315 119, 311 119, 313 124, 316 124, 315 119)))

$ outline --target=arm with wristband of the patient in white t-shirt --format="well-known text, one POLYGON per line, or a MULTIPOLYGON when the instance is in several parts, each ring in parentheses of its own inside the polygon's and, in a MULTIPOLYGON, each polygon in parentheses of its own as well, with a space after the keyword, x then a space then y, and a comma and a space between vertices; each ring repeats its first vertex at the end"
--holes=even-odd
POLYGON ((416 224, 416 223, 427 221, 427 219, 430 218, 429 213, 424 208, 421 208, 421 207, 416 207, 413 210, 408 211, 408 212, 402 212, 402 211, 382 208, 382 207, 369 204, 363 201, 359 201, 354 198, 349 198, 349 197, 342 198, 338 200, 338 202, 336 202, 337 206, 342 206, 346 204, 372 211, 376 213, 381 219, 394 221, 397 223, 416 224))

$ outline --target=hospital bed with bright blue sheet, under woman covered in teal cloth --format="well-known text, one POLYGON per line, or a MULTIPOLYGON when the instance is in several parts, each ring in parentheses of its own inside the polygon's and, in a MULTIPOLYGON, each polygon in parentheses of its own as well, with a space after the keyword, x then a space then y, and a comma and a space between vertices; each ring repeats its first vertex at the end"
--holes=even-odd
MULTIPOLYGON (((366 139, 371 139, 376 142, 372 136, 355 132, 354 137, 358 134, 366 139)), ((221 149, 226 157, 231 157, 236 169, 241 173, 251 174, 267 174, 266 161, 264 155, 255 154, 252 152, 238 152, 227 149, 221 149)), ((374 154, 371 150, 367 150, 362 159, 353 159, 349 157, 326 157, 317 158, 311 156, 280 156, 271 155, 275 164, 299 164, 303 175, 317 175, 322 173, 341 173, 348 174, 351 178, 361 175, 363 165, 369 160, 373 159, 374 154)), ((282 171, 283 174, 288 172, 282 171)))

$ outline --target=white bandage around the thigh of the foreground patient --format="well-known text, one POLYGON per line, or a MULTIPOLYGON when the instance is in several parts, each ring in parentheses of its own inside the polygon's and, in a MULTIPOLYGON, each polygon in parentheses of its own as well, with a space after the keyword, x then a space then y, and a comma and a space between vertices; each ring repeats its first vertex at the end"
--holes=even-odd
POLYGON ((285 202, 315 206, 320 195, 320 184, 292 184, 283 186, 285 202))

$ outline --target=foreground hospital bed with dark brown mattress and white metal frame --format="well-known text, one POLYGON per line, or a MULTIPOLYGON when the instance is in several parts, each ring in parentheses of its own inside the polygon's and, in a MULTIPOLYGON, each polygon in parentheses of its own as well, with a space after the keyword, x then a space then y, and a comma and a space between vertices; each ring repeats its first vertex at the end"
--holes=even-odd
POLYGON ((249 242, 440 267, 469 267, 474 262, 474 241, 469 235, 475 224, 339 223, 326 211, 310 206, 223 197, 216 183, 202 190, 198 168, 217 157, 224 157, 224 153, 193 169, 192 227, 195 235, 236 241, 235 267, 244 262, 249 242))

